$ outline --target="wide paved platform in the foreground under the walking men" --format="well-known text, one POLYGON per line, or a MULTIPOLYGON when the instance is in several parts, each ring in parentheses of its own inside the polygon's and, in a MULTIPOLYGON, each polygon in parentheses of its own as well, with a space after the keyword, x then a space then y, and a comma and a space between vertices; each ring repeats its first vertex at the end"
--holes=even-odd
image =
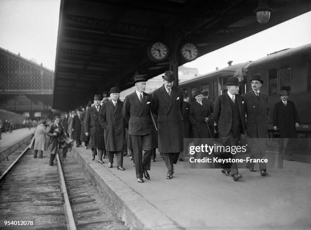
POLYGON ((311 166, 284 161, 283 169, 269 175, 241 169, 234 182, 220 169, 185 169, 175 166, 171 180, 157 154, 150 180, 137 183, 129 156, 126 171, 108 169, 90 160, 90 149, 74 147, 71 153, 83 166, 120 219, 133 229, 310 229, 311 166))

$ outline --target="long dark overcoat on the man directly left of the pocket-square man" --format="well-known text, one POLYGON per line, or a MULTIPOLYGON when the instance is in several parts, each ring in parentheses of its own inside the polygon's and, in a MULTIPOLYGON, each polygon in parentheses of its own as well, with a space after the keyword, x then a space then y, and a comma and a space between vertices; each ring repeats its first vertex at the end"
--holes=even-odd
POLYGON ((117 101, 115 107, 111 100, 102 105, 99 122, 105 129, 106 151, 119 152, 123 150, 125 139, 125 124, 122 115, 123 102, 117 101))

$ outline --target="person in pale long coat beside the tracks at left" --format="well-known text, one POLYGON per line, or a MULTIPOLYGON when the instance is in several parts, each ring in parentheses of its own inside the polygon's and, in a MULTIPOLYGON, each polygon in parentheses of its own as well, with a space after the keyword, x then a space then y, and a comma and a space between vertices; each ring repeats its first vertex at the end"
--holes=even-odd
POLYGON ((35 130, 35 147, 34 158, 37 158, 39 152, 39 158, 43 158, 43 152, 46 151, 46 137, 48 130, 46 128, 46 120, 42 120, 41 124, 36 127, 35 130))

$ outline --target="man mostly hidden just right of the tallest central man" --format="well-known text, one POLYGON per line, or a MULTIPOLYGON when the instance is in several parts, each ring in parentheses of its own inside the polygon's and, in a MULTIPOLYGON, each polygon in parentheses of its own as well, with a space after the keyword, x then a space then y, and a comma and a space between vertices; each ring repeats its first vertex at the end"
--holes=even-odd
POLYGON ((191 142, 191 137, 192 137, 192 126, 189 120, 189 95, 188 92, 184 91, 183 92, 183 106, 182 106, 182 117, 183 117, 183 132, 184 132, 184 146, 183 146, 183 151, 180 152, 179 154, 179 160, 184 161, 185 155, 189 155, 188 153, 188 148, 191 142))

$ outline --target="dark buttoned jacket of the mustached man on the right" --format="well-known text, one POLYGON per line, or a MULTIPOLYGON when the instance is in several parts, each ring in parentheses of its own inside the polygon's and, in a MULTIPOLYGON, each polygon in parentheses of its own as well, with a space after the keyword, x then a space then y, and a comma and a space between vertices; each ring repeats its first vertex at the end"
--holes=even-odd
POLYGON ((268 95, 259 93, 259 100, 254 91, 242 94, 246 113, 247 136, 251 138, 267 138, 269 124, 268 95))

